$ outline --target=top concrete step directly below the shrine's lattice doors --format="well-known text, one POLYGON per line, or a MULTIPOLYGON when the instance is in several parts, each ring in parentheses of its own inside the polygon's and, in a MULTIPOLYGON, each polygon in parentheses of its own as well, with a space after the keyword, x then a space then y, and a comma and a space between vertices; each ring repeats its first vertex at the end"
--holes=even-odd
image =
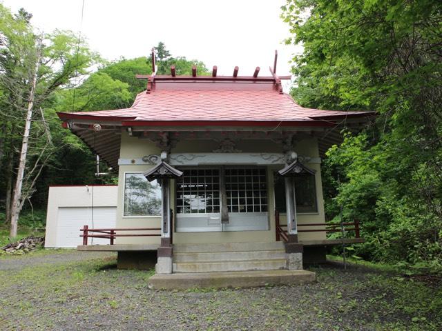
POLYGON ((253 252, 256 250, 284 250, 282 241, 261 243, 174 243, 173 252, 253 252))

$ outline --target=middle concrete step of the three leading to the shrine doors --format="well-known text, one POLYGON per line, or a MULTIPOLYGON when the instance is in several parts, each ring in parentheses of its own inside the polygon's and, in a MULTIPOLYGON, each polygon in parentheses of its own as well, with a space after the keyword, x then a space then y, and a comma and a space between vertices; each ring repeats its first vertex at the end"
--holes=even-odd
POLYGON ((173 252, 173 261, 178 262, 216 262, 216 261, 248 261, 260 259, 285 259, 285 250, 256 250, 245 252, 173 252))

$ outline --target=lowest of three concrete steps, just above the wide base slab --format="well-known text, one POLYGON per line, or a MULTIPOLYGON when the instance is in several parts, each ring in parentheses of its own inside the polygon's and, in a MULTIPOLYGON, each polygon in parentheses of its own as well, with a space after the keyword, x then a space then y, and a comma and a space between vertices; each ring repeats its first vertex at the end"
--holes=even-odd
POLYGON ((173 263, 173 272, 232 272, 248 270, 285 269, 286 259, 257 259, 249 261, 180 262, 173 263))

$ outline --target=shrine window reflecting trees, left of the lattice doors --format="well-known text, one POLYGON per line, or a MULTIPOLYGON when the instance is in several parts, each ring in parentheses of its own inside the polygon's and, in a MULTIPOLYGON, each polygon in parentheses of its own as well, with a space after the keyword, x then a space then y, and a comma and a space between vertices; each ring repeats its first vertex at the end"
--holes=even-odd
POLYGON ((161 187, 142 173, 124 174, 124 217, 161 216, 161 187))

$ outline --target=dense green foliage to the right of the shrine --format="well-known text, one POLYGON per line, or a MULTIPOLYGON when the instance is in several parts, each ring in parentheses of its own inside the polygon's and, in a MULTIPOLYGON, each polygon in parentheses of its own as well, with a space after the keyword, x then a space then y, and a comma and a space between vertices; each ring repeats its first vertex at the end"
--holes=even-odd
POLYGON ((376 110, 323 167, 328 219, 343 206, 366 243, 356 255, 442 269, 440 1, 289 0, 282 18, 303 106, 376 110))

